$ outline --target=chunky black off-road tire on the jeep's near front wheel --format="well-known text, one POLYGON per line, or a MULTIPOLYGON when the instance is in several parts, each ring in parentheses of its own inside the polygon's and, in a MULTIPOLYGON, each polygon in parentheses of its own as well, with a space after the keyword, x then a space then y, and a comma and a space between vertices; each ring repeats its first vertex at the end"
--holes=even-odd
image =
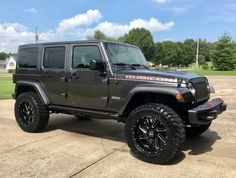
MULTIPOLYGON (((149 120, 148 122, 150 123, 150 121, 151 120, 149 120)), ((153 123, 154 122, 152 122, 151 125, 153 123)), ((149 128, 152 128, 152 126, 149 128)), ((141 133, 143 134, 145 132, 141 131, 141 133)), ((137 158, 155 164, 166 164, 173 160, 173 158, 179 151, 181 144, 185 141, 185 127, 178 114, 173 109, 165 105, 156 103, 145 104, 134 109, 127 118, 125 124, 125 134, 131 152, 137 158), (150 152, 150 150, 148 151, 147 148, 144 148, 145 146, 141 144, 142 140, 138 134, 139 129, 141 128, 140 123, 147 123, 147 121, 144 121, 144 118, 149 116, 151 118, 155 118, 152 120, 157 119, 159 128, 155 128, 156 130, 161 131, 162 129, 162 132, 166 130, 166 133, 164 135, 166 139, 166 144, 163 144, 164 142, 161 144, 159 141, 157 141, 157 143, 159 144, 158 151, 156 150, 150 152), (137 125, 139 125, 139 129, 137 129, 137 125)), ((161 134, 161 132, 158 133, 157 137, 159 137, 161 134)), ((145 134, 142 137, 145 137, 145 134)), ((161 138, 164 138, 163 135, 161 138)), ((150 140, 148 141, 148 143, 149 142, 150 140)), ((155 142, 154 144, 157 145, 157 143, 155 142)))

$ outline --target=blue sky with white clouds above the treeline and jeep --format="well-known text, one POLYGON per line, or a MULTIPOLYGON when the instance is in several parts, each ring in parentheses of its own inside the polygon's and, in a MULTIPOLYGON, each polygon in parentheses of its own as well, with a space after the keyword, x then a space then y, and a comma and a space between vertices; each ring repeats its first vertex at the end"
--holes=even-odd
POLYGON ((146 27, 155 41, 236 38, 234 0, 1 0, 0 51, 40 41, 85 39, 94 30, 118 37, 146 27))

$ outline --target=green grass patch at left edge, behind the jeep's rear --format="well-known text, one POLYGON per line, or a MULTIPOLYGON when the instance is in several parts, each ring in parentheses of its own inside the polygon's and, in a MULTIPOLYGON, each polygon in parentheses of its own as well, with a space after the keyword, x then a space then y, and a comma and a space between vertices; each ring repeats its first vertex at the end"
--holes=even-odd
POLYGON ((0 77, 0 99, 12 98, 14 87, 12 77, 0 77))

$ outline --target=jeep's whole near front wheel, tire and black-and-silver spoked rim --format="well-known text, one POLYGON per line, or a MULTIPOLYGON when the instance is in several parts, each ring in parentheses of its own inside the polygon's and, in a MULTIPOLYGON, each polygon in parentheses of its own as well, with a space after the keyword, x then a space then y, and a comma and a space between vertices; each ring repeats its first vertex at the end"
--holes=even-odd
POLYGON ((150 163, 170 162, 185 140, 180 117, 173 109, 156 103, 134 109, 127 118, 125 132, 133 154, 150 163))

